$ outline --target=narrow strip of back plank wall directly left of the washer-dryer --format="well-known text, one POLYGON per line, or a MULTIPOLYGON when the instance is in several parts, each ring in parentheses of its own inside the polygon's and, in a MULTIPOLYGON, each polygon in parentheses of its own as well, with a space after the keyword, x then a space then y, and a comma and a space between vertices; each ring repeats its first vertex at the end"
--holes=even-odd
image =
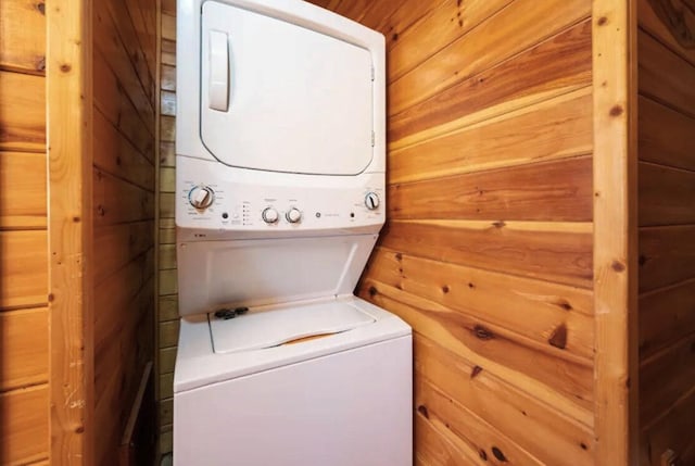
POLYGON ((160 80, 160 211, 157 377, 160 452, 172 451, 174 363, 178 343, 178 294, 174 228, 176 117, 176 0, 162 0, 160 80))

